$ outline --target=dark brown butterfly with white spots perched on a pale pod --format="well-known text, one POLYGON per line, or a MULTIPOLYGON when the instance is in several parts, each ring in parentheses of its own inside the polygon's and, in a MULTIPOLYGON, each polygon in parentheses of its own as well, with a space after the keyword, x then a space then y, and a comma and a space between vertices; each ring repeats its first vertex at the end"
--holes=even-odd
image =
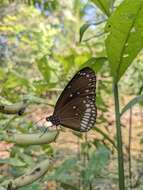
POLYGON ((50 126, 62 125, 79 132, 94 127, 97 116, 96 75, 85 67, 78 71, 61 93, 53 115, 46 117, 50 126))

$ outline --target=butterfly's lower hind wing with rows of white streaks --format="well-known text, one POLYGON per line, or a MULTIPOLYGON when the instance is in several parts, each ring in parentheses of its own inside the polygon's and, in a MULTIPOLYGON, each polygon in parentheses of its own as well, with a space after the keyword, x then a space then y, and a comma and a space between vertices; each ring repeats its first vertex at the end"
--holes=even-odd
POLYGON ((96 122, 97 110, 93 99, 77 97, 67 103, 60 113, 60 124, 76 131, 89 131, 96 122))

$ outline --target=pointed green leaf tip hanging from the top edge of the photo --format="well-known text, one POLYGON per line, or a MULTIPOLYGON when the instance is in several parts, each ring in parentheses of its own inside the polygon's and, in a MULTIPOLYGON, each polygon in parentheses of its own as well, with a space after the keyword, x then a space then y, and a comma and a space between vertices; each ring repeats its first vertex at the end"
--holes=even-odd
POLYGON ((104 14, 110 16, 114 0, 91 0, 104 14))

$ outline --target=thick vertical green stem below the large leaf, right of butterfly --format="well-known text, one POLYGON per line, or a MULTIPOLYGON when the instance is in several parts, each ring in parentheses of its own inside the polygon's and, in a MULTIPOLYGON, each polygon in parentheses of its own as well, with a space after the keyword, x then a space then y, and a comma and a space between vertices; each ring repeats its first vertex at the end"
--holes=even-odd
POLYGON ((121 124, 120 124, 120 107, 119 107, 117 83, 114 83, 114 101, 115 101, 116 135, 117 135, 117 151, 118 151, 119 190, 125 190, 122 131, 121 131, 121 124))

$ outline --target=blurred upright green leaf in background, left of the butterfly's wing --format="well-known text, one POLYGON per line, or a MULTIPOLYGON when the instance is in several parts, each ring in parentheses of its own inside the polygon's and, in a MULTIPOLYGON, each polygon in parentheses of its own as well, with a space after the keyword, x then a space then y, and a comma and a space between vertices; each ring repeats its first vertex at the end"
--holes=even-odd
POLYGON ((49 82, 50 81, 50 66, 48 65, 48 60, 46 56, 43 56, 41 59, 37 60, 37 66, 39 71, 41 72, 44 79, 49 82))

